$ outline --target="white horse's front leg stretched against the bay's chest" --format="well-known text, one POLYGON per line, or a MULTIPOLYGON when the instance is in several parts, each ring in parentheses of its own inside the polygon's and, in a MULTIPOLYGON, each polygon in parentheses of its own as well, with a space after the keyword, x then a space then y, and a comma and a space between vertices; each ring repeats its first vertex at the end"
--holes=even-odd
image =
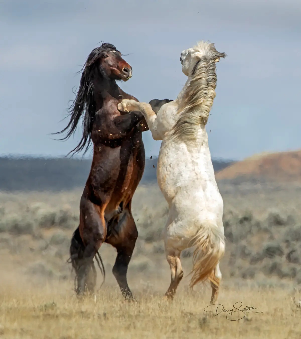
POLYGON ((153 139, 162 140, 163 136, 158 132, 157 128, 157 116, 150 104, 123 99, 121 103, 118 104, 118 109, 123 112, 140 111, 146 120, 150 132, 152 132, 153 139))

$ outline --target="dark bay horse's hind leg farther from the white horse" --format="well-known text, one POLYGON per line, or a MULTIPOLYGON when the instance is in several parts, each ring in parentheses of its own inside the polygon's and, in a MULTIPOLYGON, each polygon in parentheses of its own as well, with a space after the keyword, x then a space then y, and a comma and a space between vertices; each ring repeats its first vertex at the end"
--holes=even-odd
POLYGON ((82 258, 79 261, 78 268, 78 295, 84 293, 87 284, 89 285, 89 288, 91 288, 91 285, 95 283, 96 270, 93 270, 93 258, 96 252, 99 250, 101 244, 104 242, 107 232, 103 209, 83 197, 80 208, 81 223, 79 226, 79 231, 84 243, 84 251, 82 258), (88 282, 88 278, 92 279, 89 279, 88 282))

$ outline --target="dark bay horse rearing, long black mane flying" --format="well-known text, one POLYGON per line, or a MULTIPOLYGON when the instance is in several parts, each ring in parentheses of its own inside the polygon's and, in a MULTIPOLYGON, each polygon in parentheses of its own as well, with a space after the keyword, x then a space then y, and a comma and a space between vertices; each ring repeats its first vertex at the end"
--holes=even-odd
MULTIPOLYGON (((60 132, 69 138, 83 119, 83 135, 69 152, 85 152, 93 143, 91 170, 80 200, 80 223, 71 239, 71 263, 77 277, 77 295, 96 284, 94 257, 103 242, 117 250, 113 274, 125 299, 133 299, 127 283, 138 231, 131 211, 134 192, 141 180, 145 153, 142 132, 148 130, 141 112, 118 111, 124 99, 116 81, 132 77, 132 67, 116 47, 103 43, 93 49, 81 70, 80 87, 70 110, 70 121, 60 132)), ((162 103, 163 104, 163 103, 162 103)), ((99 254, 98 254, 99 256, 99 254)), ((100 258, 100 256, 99 256, 100 258)))

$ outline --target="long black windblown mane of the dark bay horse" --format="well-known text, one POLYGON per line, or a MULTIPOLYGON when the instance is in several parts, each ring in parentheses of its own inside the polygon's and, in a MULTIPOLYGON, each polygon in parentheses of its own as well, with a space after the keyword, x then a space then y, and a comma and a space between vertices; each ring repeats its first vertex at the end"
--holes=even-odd
MULTIPOLYGON (((72 134, 76 131, 78 122, 80 117, 83 115, 83 135, 78 143, 78 145, 72 149, 68 153, 77 153, 82 151, 85 147, 84 154, 87 152, 88 148, 91 145, 91 132, 92 132, 92 126, 94 122, 94 117, 96 113, 96 103, 93 95, 93 74, 94 71, 97 68, 96 61, 101 59, 104 54, 108 51, 117 51, 119 52, 116 47, 110 43, 103 43, 100 47, 96 47, 93 49, 93 51, 89 54, 87 57, 87 60, 82 67, 82 69, 78 73, 82 73, 81 79, 80 79, 80 86, 78 92, 74 92, 76 94, 76 98, 73 101, 72 105, 70 106, 68 113, 70 116, 70 121, 68 125, 60 132, 56 132, 53 134, 60 134, 69 129, 67 132, 67 135, 62 139, 57 140, 66 140, 69 137, 71 137, 72 134)), ((101 69, 101 67, 98 67, 97 72, 100 77, 107 78, 106 73, 101 69)))

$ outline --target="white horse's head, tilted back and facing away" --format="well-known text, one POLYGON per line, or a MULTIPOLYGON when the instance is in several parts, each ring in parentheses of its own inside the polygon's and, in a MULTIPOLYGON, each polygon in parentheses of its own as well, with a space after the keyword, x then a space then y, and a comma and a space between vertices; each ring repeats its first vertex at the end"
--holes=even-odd
POLYGON ((197 64, 204 56, 206 58, 212 57, 215 62, 218 62, 220 58, 224 58, 226 55, 225 53, 217 52, 213 43, 200 41, 197 46, 182 51, 180 56, 182 72, 189 77, 194 73, 197 64))

